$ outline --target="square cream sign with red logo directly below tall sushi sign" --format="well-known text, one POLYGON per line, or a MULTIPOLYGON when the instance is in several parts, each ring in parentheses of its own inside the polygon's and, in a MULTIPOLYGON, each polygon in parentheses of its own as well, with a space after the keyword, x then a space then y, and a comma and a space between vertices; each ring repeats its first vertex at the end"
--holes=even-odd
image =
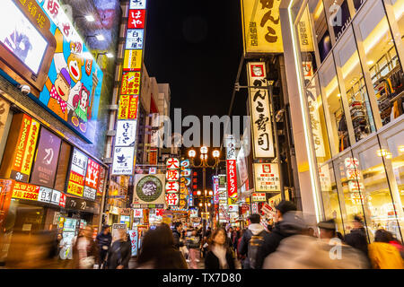
POLYGON ((254 163, 255 191, 280 191, 277 163, 254 163))

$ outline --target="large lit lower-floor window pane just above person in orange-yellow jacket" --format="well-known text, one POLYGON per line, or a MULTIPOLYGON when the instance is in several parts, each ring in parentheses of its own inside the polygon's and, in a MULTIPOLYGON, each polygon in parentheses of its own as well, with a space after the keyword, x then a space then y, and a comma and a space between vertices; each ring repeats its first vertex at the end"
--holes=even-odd
POLYGON ((398 239, 400 228, 395 206, 391 201, 391 191, 383 164, 384 152, 380 148, 377 137, 361 144, 353 151, 356 178, 349 187, 351 192, 362 195, 364 214, 371 241, 378 229, 391 231, 398 239))

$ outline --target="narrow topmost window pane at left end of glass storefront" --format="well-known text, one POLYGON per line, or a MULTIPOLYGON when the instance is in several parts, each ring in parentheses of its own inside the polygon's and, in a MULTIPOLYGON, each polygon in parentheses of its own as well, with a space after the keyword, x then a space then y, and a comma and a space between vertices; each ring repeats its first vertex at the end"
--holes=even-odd
POLYGON ((320 1, 310 1, 309 9, 312 12, 314 22, 315 38, 319 48, 321 62, 329 55, 331 51, 331 39, 329 37, 329 28, 327 17, 324 11, 324 4, 320 1))

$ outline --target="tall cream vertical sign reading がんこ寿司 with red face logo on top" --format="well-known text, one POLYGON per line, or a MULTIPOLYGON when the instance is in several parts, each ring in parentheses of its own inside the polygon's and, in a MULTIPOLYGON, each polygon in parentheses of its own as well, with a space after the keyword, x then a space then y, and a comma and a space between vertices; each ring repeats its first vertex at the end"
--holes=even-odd
MULTIPOLYGON (((248 64, 249 86, 267 87, 265 63, 248 64)), ((250 113, 254 158, 274 157, 271 114, 267 89, 250 90, 250 113)))

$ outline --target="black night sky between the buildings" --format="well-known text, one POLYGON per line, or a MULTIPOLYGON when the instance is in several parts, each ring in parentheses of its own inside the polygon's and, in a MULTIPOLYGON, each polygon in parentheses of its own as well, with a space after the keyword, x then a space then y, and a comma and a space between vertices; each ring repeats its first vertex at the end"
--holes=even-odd
MULTIPOLYGON (((148 0, 145 65, 170 83, 174 108, 187 115, 227 115, 240 59, 242 23, 237 0, 148 0)), ((245 115, 238 94, 233 114, 245 115)))

